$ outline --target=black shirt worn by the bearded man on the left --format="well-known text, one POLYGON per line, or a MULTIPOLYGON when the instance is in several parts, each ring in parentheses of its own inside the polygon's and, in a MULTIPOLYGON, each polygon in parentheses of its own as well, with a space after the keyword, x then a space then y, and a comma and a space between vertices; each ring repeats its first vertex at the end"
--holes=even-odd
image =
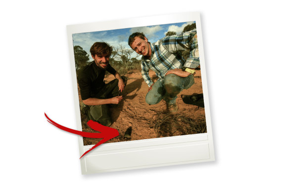
POLYGON ((92 61, 79 72, 78 85, 82 100, 96 97, 98 91, 105 85, 103 79, 106 71, 112 75, 116 73, 110 64, 102 69, 96 65, 95 61, 92 61))

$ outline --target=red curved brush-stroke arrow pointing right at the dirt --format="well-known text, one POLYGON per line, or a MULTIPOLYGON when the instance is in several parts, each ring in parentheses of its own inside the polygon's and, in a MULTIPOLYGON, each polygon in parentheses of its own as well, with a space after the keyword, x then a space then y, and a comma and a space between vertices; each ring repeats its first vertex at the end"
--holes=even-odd
MULTIPOLYGON (((64 131, 70 132, 70 133, 74 133, 77 135, 80 135, 82 137, 89 137, 89 138, 103 138, 102 140, 100 140, 96 145, 94 145, 94 147, 92 147, 90 150, 88 150, 87 152, 85 152, 81 157, 83 157, 85 154, 89 153, 90 151, 92 151, 93 149, 95 149, 97 146, 103 144, 104 142, 116 137, 119 135, 118 131, 114 128, 111 127, 107 127, 104 125, 99 124, 98 122, 89 120, 87 122, 88 126, 91 127, 92 129, 99 131, 100 133, 89 133, 89 132, 83 132, 83 131, 78 131, 78 130, 74 130, 74 129, 70 129, 67 127, 64 127, 62 125, 59 125, 58 123, 54 122, 53 120, 51 120, 46 113, 44 113, 44 115, 46 116, 46 118, 48 119, 47 121, 49 123, 51 123, 52 125, 58 127, 59 129, 62 129, 64 131)), ((80 157, 80 158, 81 158, 80 157)))

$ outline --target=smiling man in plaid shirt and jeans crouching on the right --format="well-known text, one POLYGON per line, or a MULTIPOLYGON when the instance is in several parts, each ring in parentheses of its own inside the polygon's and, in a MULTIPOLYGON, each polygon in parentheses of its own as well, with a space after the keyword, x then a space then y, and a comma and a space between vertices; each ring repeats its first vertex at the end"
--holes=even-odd
POLYGON ((178 111, 177 95, 193 85, 193 69, 199 67, 196 29, 154 43, 148 42, 143 33, 137 32, 129 37, 128 44, 143 55, 142 75, 149 87, 146 103, 153 105, 164 99, 169 112, 178 111), (181 53, 184 50, 190 50, 187 60, 181 53), (158 77, 155 83, 148 76, 149 69, 158 77))

